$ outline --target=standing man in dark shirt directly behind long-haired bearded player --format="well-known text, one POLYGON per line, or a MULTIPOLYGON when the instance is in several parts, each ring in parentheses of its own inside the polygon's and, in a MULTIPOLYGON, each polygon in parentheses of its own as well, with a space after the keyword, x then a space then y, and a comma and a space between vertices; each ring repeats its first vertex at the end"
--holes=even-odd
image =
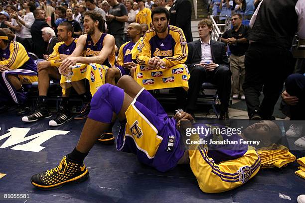
POLYGON ((116 46, 119 48, 124 44, 124 27, 128 21, 128 11, 123 3, 117 0, 107 0, 112 6, 107 15, 108 33, 113 35, 116 46))

